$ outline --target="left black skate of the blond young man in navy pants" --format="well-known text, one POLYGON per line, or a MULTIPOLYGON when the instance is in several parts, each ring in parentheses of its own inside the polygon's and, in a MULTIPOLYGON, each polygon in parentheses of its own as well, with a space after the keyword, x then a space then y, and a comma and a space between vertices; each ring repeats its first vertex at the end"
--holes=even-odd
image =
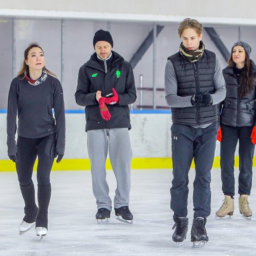
POLYGON ((188 218, 185 217, 179 217, 174 219, 175 224, 173 226, 173 229, 175 229, 173 234, 173 241, 176 242, 176 246, 180 247, 184 243, 184 239, 187 237, 187 225, 188 225, 188 218))

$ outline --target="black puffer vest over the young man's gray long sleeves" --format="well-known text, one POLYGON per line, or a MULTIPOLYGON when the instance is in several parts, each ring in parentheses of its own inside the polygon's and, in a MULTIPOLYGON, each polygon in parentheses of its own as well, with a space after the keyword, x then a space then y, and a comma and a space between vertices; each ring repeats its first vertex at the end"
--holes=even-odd
MULTIPOLYGON (((215 93, 215 53, 204 50, 203 57, 192 63, 185 60, 179 52, 168 57, 168 60, 172 61, 174 66, 178 96, 192 96, 204 91, 215 93)), ((172 120, 173 123, 193 126, 211 123, 217 121, 217 105, 172 108, 172 120)))

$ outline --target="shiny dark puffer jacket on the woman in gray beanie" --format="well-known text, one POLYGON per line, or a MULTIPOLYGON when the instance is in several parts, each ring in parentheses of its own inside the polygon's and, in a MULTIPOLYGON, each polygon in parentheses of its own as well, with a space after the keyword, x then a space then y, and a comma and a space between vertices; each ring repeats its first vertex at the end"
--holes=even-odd
POLYGON ((256 66, 252 60, 250 62, 254 76, 254 89, 243 98, 240 97, 240 85, 233 68, 227 66, 223 70, 227 92, 226 98, 221 104, 221 124, 238 127, 255 125, 256 66))

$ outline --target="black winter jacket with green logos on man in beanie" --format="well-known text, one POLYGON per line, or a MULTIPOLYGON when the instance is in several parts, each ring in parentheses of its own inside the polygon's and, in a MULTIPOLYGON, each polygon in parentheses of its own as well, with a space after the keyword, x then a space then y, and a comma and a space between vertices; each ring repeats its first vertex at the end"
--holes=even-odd
MULTIPOLYGON (((86 106, 86 131, 98 129, 128 128, 131 129, 130 110, 128 104, 136 100, 136 88, 132 66, 118 53, 112 51, 111 62, 107 70, 100 65, 96 53, 84 63, 78 74, 75 93, 76 103, 86 106), (96 92, 101 96, 112 93, 115 88, 119 101, 117 105, 108 105, 111 119, 105 121, 99 110, 96 92)), ((103 61, 102 61, 103 63, 103 61)))

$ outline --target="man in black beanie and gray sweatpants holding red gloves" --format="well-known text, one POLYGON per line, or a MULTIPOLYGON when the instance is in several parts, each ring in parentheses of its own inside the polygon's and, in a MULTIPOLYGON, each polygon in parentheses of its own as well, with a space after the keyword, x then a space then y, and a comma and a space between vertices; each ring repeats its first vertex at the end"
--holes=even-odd
POLYGON ((109 156, 117 188, 114 198, 118 220, 132 222, 129 210, 132 148, 129 138, 129 104, 136 100, 133 70, 129 62, 112 51, 109 31, 98 30, 93 38, 95 53, 78 74, 76 103, 86 107, 86 132, 91 162, 97 220, 108 221, 112 209, 105 162, 109 156), (122 219, 119 219, 119 216, 122 219))

